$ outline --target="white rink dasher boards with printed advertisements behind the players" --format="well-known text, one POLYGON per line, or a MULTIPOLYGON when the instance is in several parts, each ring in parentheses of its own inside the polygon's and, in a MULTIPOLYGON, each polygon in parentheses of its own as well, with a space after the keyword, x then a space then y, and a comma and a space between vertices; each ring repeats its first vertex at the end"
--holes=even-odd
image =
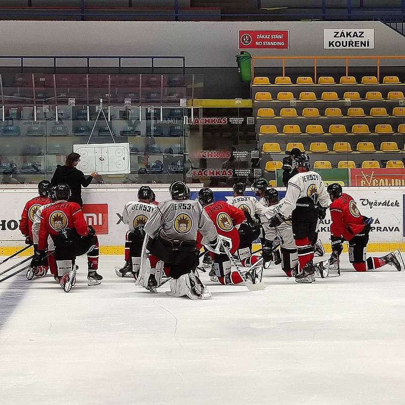
MULTIPOLYGON (((139 185, 90 185, 83 189, 84 214, 89 225, 96 228, 100 245, 122 247, 128 227, 122 221, 124 204, 137 200, 139 185)), ((150 184, 149 184, 150 186, 150 184)), ((191 197, 194 198, 202 187, 192 185, 191 197)), ((157 201, 170 198, 169 185, 152 187, 157 201)), ((280 197, 285 189, 278 188, 280 197)), ((231 188, 213 188, 217 200, 229 200, 231 188)), ((371 244, 403 244, 403 211, 405 189, 389 187, 345 187, 344 192, 352 195, 362 215, 373 217, 371 244)), ((247 191, 248 195, 254 195, 247 191)), ((19 220, 26 201, 37 195, 35 185, 4 185, 0 193, 3 207, 0 215, 0 247, 23 246, 24 237, 18 230, 19 220)), ((328 244, 330 237, 330 213, 320 221, 320 238, 328 244)), ((384 249, 381 247, 381 249, 384 249)))

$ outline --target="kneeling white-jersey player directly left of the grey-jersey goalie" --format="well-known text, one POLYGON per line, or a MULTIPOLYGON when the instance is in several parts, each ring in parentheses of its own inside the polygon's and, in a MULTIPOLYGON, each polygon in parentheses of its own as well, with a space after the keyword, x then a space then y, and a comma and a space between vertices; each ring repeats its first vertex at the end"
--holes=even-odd
POLYGON ((151 204, 153 192, 149 186, 142 186, 138 190, 138 201, 129 201, 124 206, 123 222, 128 225, 129 230, 125 235, 125 266, 115 269, 118 277, 125 277, 131 272, 136 280, 141 265, 142 245, 145 239, 143 227, 156 209, 151 204))

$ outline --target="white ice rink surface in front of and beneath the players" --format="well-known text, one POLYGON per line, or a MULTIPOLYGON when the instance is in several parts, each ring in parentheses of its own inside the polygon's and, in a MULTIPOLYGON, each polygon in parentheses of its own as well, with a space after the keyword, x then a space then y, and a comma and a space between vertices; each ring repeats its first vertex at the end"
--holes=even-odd
POLYGON ((204 301, 118 278, 121 256, 100 257, 96 287, 79 258, 69 294, 21 273, 0 284, 0 403, 403 404, 405 272, 342 257, 340 277, 274 267, 257 292, 203 273, 204 301))

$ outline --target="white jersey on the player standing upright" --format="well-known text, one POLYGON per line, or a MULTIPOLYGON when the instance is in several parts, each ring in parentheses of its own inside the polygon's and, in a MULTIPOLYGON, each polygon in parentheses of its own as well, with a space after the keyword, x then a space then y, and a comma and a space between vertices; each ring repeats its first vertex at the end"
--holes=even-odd
POLYGON ((280 213, 289 218, 298 204, 310 206, 329 206, 329 194, 323 184, 322 177, 311 170, 297 173, 288 182, 284 204, 280 213), (302 201, 299 201, 301 200, 302 201))

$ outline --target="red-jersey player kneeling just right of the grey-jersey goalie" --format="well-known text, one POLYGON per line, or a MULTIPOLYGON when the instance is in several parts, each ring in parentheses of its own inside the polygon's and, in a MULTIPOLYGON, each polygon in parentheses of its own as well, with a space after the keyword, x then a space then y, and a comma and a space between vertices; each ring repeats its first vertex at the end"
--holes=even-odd
MULTIPOLYGON (((239 248, 239 232, 237 225, 246 221, 245 213, 236 207, 233 207, 225 201, 214 202, 214 193, 209 188, 201 188, 198 191, 198 201, 204 210, 214 222, 219 235, 226 236, 231 240, 231 247, 229 249, 231 254, 234 254, 239 248)), ((198 235, 197 242, 200 242, 201 236, 198 235)), ((201 244, 197 244, 200 248, 201 244)), ((217 277, 218 281, 225 284, 239 284, 242 279, 237 271, 231 271, 231 262, 225 253, 214 254, 214 266, 210 272, 211 277, 217 277)), ((214 278, 215 279, 215 278, 214 278)))

